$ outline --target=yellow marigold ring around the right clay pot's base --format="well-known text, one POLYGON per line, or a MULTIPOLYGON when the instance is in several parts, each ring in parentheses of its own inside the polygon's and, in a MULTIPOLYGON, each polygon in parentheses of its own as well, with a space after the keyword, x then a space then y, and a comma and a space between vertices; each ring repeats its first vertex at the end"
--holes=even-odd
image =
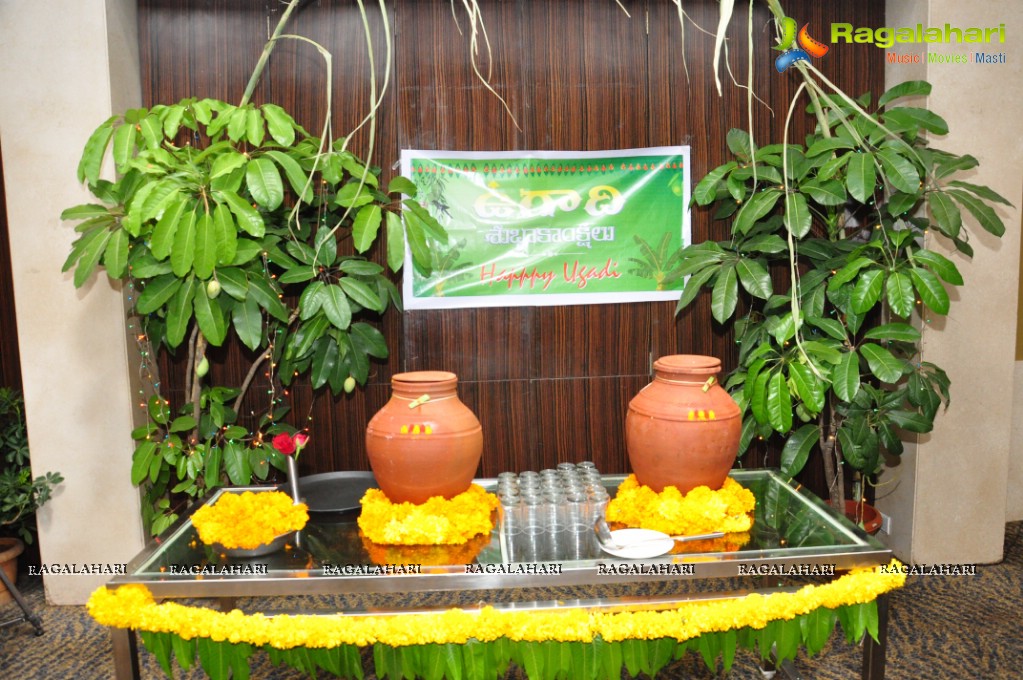
POLYGON ((657 493, 628 475, 608 503, 608 522, 665 534, 748 532, 756 498, 731 478, 717 491, 697 487, 684 496, 675 487, 657 493))

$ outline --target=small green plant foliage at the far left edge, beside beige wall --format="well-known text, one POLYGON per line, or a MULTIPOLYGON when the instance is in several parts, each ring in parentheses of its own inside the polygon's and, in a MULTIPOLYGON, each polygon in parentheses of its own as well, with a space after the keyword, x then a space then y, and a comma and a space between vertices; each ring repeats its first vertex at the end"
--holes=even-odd
MULTIPOLYGON (((25 423, 25 401, 21 393, 0 388, 0 568, 6 570, 11 583, 17 574, 17 556, 25 544, 34 541, 36 510, 53 493, 53 487, 63 482, 57 472, 46 472, 33 479, 29 466, 29 437, 25 423)), ((6 589, 0 591, 6 593, 6 589)))

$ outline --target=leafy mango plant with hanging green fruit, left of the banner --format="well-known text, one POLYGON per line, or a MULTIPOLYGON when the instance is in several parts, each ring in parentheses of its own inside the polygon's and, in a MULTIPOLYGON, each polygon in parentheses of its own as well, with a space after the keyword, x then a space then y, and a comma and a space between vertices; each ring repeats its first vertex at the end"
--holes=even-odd
POLYGON ((131 291, 143 355, 185 359, 184 398, 172 404, 154 384, 148 422, 132 433, 132 482, 145 490, 143 524, 154 535, 177 518, 175 498, 285 469, 271 440, 295 429, 281 421, 281 394, 296 376, 307 375, 314 390, 351 393, 365 383, 370 361, 388 356, 374 323, 400 307, 400 296, 369 257, 381 234, 387 250, 379 259, 393 272, 406 233, 424 271, 427 239, 446 242, 411 197, 414 185, 402 177, 383 184, 381 170, 348 149, 351 135, 330 139, 328 125, 312 135, 280 106, 250 101, 297 5, 286 6, 238 104, 187 98, 102 123, 78 168, 97 201, 62 214, 81 234, 64 265, 75 285, 104 269, 131 291), (100 176, 107 155, 113 180, 100 176), (225 354, 210 350, 232 343, 249 368, 240 383, 217 384, 211 363, 225 354), (269 404, 244 420, 261 373, 269 404))

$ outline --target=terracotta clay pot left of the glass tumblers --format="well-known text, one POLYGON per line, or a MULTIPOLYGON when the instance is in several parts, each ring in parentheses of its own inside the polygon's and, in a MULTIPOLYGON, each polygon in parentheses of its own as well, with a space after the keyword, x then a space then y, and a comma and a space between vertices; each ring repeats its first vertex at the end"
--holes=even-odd
POLYGON ((447 371, 398 373, 391 400, 366 426, 366 454, 381 490, 396 503, 451 498, 469 489, 483 454, 483 428, 458 400, 447 371))

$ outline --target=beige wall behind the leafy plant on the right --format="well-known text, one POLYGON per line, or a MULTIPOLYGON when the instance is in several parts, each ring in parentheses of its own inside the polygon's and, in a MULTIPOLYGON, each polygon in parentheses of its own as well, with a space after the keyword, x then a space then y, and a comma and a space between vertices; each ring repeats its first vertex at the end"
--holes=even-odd
MULTIPOLYGON (((980 168, 963 179, 987 184, 1021 205, 1023 188, 1023 5, 1015 0, 962 3, 955 0, 889 2, 887 25, 992 27, 1006 24, 1007 63, 889 66, 889 84, 923 78, 934 90, 928 106, 951 130, 939 148, 972 153, 980 168)), ((923 52, 918 46, 898 51, 923 52)), ((935 52, 966 52, 931 46, 935 52)), ((925 322, 923 359, 945 368, 952 404, 935 429, 921 438, 901 464, 886 470, 878 504, 892 516, 890 544, 916 562, 990 562, 1002 557, 1013 452, 1016 308, 1019 280, 1019 208, 999 208, 1007 232, 1002 239, 975 229, 973 259, 929 247, 955 261, 966 284, 951 291, 951 314, 925 322)), ((1018 448, 1018 447, 1017 447, 1018 448)), ((1014 483, 1018 484, 1018 483, 1014 483)))

